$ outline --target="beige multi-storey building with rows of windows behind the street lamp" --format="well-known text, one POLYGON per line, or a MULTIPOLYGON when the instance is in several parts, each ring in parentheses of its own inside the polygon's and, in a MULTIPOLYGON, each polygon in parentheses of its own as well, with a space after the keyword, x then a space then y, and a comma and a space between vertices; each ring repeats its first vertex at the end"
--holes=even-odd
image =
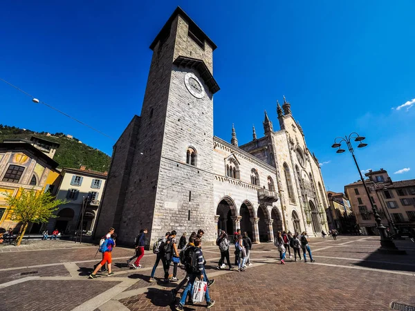
MULTIPOLYGON (((415 180, 394 182, 387 171, 365 173, 365 183, 369 189, 370 200, 376 205, 383 225, 393 225, 400 232, 407 232, 415 227, 415 180)), ((373 211, 362 182, 353 182, 344 187, 350 199, 356 221, 364 234, 378 234, 375 228, 373 211)))

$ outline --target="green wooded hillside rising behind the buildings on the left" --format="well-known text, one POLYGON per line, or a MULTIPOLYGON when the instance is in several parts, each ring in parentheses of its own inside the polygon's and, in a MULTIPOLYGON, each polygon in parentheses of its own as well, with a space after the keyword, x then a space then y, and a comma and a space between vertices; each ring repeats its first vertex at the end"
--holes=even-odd
POLYGON ((109 171, 111 157, 102 151, 83 144, 77 138, 64 133, 37 133, 28 129, 19 129, 15 126, 0 124, 0 142, 4 139, 30 140, 32 136, 57 142, 60 144, 56 150, 53 160, 59 163, 59 167, 71 167, 78 169, 85 165, 93 171, 109 171))

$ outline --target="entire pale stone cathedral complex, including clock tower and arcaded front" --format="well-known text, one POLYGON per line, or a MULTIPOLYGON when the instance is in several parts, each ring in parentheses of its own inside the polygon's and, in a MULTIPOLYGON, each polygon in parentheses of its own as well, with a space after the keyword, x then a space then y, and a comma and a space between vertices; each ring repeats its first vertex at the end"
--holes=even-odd
POLYGON ((213 134, 216 45, 176 8, 150 46, 153 50, 140 116, 113 147, 95 238, 115 227, 131 244, 149 229, 152 245, 165 232, 246 231, 255 243, 278 230, 327 230, 327 200, 317 158, 306 147, 284 97, 279 130, 264 115, 264 137, 239 145, 213 134))

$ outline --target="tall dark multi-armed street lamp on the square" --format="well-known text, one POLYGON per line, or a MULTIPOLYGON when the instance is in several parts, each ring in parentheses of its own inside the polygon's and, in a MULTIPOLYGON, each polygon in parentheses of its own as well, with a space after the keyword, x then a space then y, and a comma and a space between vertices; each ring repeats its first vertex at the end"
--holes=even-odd
POLYGON ((354 139, 355 142, 359 142, 358 148, 363 148, 363 147, 367 146, 367 144, 362 142, 363 140, 365 140, 365 137, 360 136, 356 132, 353 132, 349 136, 335 138, 334 144, 332 144, 331 147, 332 148, 338 148, 338 150, 335 151, 336 153, 344 153, 345 150, 341 149, 340 147, 342 147, 342 142, 345 142, 347 144, 347 148, 349 149, 349 152, 351 153, 351 156, 353 156, 353 160, 354 160, 354 162, 356 164, 356 167, 357 167, 357 169, 359 171, 359 174, 360 174, 360 180, 362 180, 363 187, 365 187, 365 191, 366 191, 366 194, 367 194, 367 198, 369 199, 371 209, 372 209, 372 211, 374 211, 376 225, 378 227, 379 234, 380 234, 380 251, 394 252, 396 254, 398 254, 398 253, 406 254, 405 251, 399 251, 398 250, 398 248, 396 247, 394 241, 392 241, 391 238, 389 238, 389 236, 387 235, 386 227, 384 225, 382 225, 382 220, 379 216, 378 209, 374 206, 374 202, 372 202, 372 200, 370 198, 369 190, 366 187, 365 178, 363 178, 363 176, 362 176, 362 171, 360 171, 358 161, 356 160, 356 156, 354 155, 353 147, 351 145, 351 140, 353 140, 353 139, 354 139))

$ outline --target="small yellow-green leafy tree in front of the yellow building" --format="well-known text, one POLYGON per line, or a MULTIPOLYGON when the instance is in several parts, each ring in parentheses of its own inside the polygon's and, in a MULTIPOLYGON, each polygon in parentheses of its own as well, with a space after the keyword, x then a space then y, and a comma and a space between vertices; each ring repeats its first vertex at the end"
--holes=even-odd
POLYGON ((6 202, 12 209, 11 220, 21 223, 17 235, 17 246, 20 245, 29 223, 47 223, 49 218, 57 217, 53 214, 59 207, 66 204, 66 200, 55 200, 49 191, 35 191, 33 189, 19 189, 17 196, 7 194, 6 202))

